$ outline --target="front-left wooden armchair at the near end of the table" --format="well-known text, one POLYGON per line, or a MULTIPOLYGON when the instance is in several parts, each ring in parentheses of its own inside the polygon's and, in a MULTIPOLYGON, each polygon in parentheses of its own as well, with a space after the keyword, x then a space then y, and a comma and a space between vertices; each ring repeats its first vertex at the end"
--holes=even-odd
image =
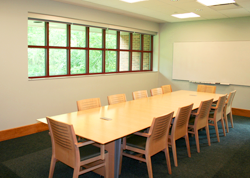
POLYGON ((57 161, 74 169, 73 178, 89 171, 104 167, 105 177, 108 177, 108 153, 104 145, 95 147, 93 141, 78 143, 72 125, 55 121, 47 117, 52 142, 52 157, 49 178, 53 177, 57 161), (93 167, 82 169, 86 164, 100 161, 93 167))

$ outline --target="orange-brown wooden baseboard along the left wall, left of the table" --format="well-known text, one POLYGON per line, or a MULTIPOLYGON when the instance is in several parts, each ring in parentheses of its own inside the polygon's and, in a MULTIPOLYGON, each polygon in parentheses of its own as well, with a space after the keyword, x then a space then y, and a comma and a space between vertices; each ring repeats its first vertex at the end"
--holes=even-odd
POLYGON ((44 123, 36 123, 8 130, 2 130, 0 131, 0 141, 22 137, 25 135, 34 134, 45 130, 49 130, 49 128, 48 125, 44 123))

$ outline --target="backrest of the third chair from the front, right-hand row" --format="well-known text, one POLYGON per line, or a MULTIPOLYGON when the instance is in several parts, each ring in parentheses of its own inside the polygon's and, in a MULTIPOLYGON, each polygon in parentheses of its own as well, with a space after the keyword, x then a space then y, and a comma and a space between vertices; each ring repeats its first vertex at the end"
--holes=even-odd
POLYGON ((194 125, 195 128, 200 129, 205 127, 208 124, 208 116, 211 110, 213 99, 202 101, 197 111, 195 117, 194 125))

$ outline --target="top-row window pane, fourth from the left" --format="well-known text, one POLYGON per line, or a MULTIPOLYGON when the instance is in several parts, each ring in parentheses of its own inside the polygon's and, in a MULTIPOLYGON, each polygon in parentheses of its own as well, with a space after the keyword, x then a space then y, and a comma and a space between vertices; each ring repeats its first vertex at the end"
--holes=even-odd
POLYGON ((102 48, 102 29, 101 28, 89 28, 89 47, 90 48, 102 48))

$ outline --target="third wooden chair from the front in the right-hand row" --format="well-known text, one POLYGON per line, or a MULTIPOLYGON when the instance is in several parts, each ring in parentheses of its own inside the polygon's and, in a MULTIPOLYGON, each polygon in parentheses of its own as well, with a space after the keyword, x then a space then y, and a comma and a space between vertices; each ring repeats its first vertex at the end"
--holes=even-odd
POLYGON ((188 133, 195 135, 196 148, 197 152, 200 153, 200 144, 199 144, 199 133, 198 131, 202 128, 206 129, 207 141, 210 146, 210 135, 208 127, 208 115, 211 110, 213 99, 202 101, 197 112, 191 113, 191 117, 188 125, 188 133))

